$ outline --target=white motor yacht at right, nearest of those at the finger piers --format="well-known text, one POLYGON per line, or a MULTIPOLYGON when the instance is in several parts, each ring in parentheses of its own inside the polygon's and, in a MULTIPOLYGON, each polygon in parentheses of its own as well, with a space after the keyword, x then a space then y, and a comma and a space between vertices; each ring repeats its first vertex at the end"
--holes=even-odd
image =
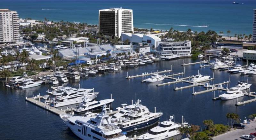
POLYGON ((219 97, 221 98, 221 100, 231 100, 242 96, 244 96, 242 90, 237 87, 233 87, 230 88, 226 93, 221 94, 219 97))

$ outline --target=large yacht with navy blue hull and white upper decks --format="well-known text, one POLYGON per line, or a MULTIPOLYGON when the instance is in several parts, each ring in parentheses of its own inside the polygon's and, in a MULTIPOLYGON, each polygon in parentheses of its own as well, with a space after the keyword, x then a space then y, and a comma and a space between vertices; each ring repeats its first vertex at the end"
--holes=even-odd
POLYGON ((117 119, 116 124, 123 132, 130 132, 151 126, 163 115, 161 112, 151 113, 148 108, 142 107, 139 103, 140 101, 136 102, 134 109, 127 116, 117 119))

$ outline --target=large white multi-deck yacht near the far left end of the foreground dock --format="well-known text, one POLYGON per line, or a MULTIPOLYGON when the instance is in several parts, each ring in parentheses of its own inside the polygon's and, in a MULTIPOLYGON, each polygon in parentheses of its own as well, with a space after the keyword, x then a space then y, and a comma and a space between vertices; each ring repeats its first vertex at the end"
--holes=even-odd
MULTIPOLYGON (((53 92, 52 95, 56 96, 55 93, 53 92)), ((60 96, 56 96, 51 105, 54 107, 60 107, 66 105, 79 104, 84 101, 84 96, 87 96, 89 99, 95 99, 98 96, 98 94, 99 92, 88 93, 88 89, 72 89, 69 91, 64 91, 64 93, 60 96)))

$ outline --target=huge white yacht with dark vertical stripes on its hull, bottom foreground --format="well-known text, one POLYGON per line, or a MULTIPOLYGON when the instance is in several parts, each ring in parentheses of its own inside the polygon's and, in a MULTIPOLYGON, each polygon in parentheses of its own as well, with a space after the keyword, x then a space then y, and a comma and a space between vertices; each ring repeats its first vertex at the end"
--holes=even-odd
POLYGON ((106 105, 95 118, 60 114, 60 118, 71 131, 83 140, 126 140, 122 130, 111 123, 106 105))

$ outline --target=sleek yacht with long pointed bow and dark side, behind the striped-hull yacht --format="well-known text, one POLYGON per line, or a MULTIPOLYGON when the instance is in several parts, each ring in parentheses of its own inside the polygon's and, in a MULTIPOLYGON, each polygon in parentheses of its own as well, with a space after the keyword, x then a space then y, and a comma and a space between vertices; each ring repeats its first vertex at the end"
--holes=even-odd
POLYGON ((84 96, 84 101, 80 103, 75 109, 76 114, 86 113, 88 111, 95 111, 101 109, 103 105, 109 105, 114 101, 114 99, 105 99, 100 101, 92 100, 84 96))

